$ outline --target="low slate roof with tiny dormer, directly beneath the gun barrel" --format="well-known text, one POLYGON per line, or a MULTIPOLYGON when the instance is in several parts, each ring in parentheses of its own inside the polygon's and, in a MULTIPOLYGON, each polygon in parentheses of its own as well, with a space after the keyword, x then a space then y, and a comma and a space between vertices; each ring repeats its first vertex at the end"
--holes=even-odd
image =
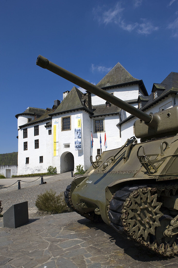
POLYGON ((121 111, 121 108, 111 104, 110 107, 106 107, 106 104, 93 105, 92 112, 94 113, 90 117, 103 116, 109 114, 118 114, 121 111))

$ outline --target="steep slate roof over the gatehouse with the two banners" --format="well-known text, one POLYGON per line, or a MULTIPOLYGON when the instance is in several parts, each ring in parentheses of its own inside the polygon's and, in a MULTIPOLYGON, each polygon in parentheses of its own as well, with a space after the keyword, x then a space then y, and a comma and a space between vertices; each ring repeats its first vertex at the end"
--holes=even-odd
POLYGON ((92 111, 90 111, 86 106, 83 105, 82 94, 83 93, 74 86, 60 103, 60 105, 56 108, 56 110, 53 113, 50 113, 50 115, 52 116, 54 114, 60 114, 66 111, 72 111, 82 108, 92 113, 92 111))

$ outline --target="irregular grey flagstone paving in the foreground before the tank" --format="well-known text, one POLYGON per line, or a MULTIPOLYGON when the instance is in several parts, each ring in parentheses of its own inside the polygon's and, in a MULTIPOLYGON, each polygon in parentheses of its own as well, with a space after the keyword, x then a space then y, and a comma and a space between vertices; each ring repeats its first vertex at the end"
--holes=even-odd
POLYGON ((178 257, 148 254, 106 224, 71 212, 35 217, 16 229, 1 221, 0 267, 177 268, 178 257))

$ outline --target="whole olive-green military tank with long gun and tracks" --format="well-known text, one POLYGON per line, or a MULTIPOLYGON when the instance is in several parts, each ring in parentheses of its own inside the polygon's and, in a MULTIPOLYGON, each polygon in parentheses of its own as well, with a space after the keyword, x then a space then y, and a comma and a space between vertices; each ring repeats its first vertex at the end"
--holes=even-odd
POLYGON ((149 251, 177 255, 178 107, 146 114, 41 55, 36 64, 139 118, 122 147, 90 157, 91 167, 64 192, 68 206, 149 251))

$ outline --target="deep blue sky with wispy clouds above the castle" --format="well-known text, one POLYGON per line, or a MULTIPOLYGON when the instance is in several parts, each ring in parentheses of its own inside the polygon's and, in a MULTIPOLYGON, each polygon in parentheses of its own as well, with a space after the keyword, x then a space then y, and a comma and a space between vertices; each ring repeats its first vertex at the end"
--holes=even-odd
POLYGON ((0 153, 18 150, 17 113, 73 87, 36 66, 38 54, 94 84, 120 62, 149 94, 178 72, 178 0, 2 0, 0 23, 0 153))

